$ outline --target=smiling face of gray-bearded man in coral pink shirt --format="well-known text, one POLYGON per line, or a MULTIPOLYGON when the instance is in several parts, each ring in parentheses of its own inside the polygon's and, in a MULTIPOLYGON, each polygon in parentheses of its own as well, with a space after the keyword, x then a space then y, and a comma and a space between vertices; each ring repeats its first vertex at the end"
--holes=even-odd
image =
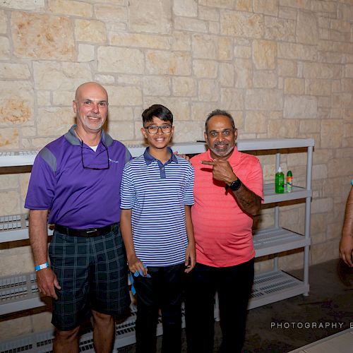
POLYGON ((228 116, 215 115, 208 120, 205 140, 210 148, 211 157, 227 160, 234 150, 237 128, 232 126, 228 116))

